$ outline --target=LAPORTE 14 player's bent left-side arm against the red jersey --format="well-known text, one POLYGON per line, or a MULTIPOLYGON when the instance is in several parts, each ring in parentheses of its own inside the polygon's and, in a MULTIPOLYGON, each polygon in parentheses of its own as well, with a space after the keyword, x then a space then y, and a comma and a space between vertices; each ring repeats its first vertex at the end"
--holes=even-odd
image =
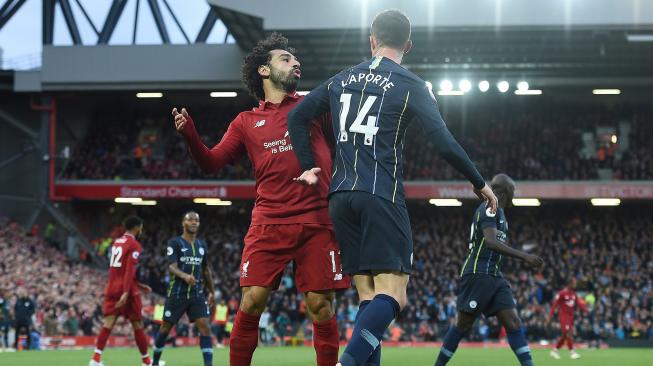
MULTIPOLYGON (((317 173, 313 169, 315 157, 311 150, 311 121, 329 110, 329 81, 313 89, 299 104, 288 113, 288 134, 293 152, 299 160, 303 173, 294 180, 300 184, 317 183, 317 173)), ((318 168, 319 169, 319 168, 318 168)))

